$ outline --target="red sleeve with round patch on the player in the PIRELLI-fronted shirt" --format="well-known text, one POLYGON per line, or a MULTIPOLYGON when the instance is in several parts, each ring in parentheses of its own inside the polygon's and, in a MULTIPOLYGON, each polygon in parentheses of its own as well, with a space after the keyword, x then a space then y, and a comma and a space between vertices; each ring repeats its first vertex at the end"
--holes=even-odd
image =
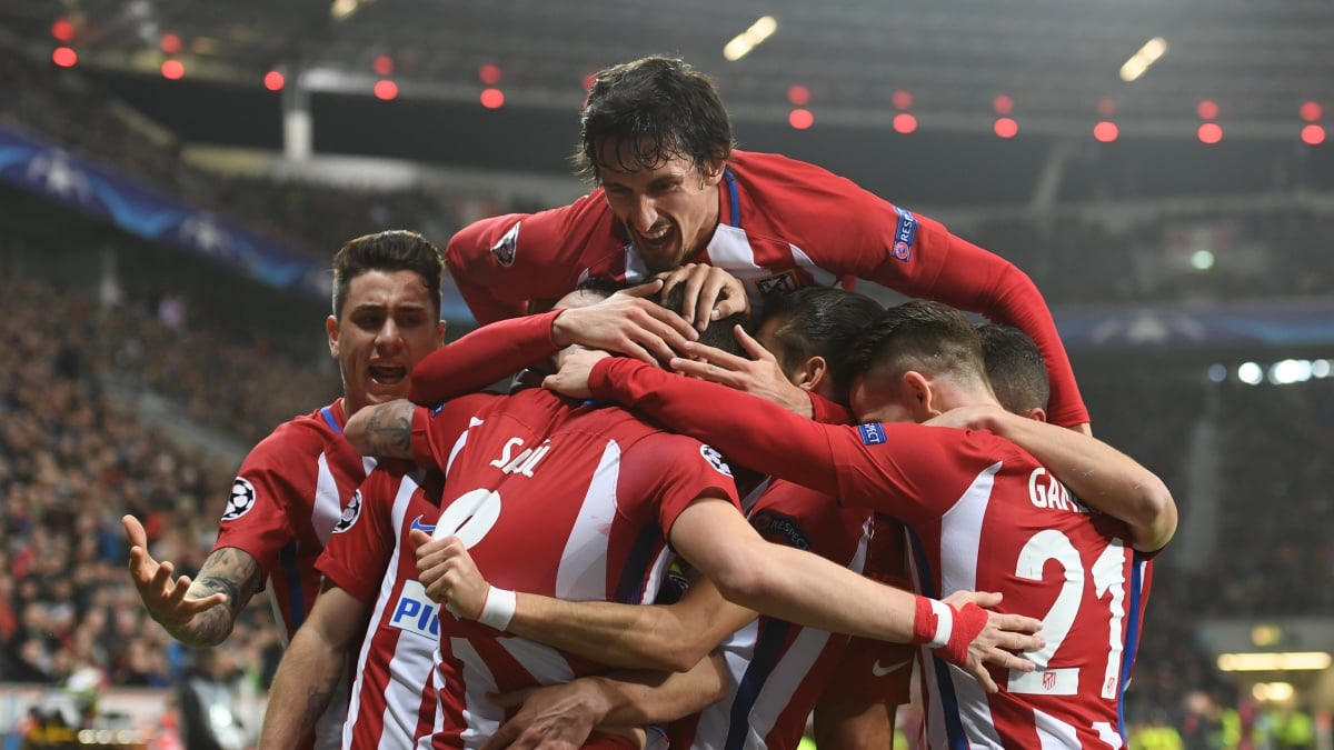
POLYGON ((356 490, 315 567, 359 602, 374 605, 394 558, 394 498, 400 476, 376 468, 356 490))

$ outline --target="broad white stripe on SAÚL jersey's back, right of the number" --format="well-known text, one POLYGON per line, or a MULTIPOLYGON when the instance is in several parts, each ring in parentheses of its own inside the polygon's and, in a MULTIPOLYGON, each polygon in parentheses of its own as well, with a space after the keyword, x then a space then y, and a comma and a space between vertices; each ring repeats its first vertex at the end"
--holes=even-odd
POLYGON ((616 520, 620 446, 607 440, 556 569, 558 599, 607 598, 607 540, 616 520))

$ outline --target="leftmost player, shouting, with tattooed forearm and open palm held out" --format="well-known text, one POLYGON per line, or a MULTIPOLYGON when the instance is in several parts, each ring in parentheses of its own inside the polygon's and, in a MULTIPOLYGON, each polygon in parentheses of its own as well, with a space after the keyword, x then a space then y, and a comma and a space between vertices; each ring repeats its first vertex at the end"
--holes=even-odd
MULTIPOLYGON (((280 424, 241 462, 217 542, 195 581, 148 554, 143 526, 123 519, 129 570, 148 613, 177 641, 216 646, 261 587, 287 637, 300 627, 320 589, 315 559, 339 526, 346 503, 374 459, 343 439, 360 408, 403 398, 412 367, 440 344, 440 251, 408 231, 356 238, 334 256, 334 312, 325 320, 343 396, 280 424)), ((338 746, 346 703, 331 702, 317 731, 338 746)))

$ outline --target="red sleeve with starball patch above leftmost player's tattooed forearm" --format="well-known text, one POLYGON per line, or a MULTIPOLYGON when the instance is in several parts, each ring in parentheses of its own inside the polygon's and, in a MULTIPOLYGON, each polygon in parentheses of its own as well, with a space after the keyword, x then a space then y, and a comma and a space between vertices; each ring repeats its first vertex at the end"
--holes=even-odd
POLYGON ((213 550, 235 547, 259 563, 268 581, 279 552, 300 536, 309 519, 316 462, 323 438, 315 430, 287 423, 251 450, 237 470, 213 550))

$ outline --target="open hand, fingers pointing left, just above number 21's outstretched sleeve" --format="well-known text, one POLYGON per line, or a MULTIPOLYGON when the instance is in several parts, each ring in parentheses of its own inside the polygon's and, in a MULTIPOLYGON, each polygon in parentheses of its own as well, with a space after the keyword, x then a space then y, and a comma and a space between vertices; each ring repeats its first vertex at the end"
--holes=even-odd
POLYGON ((699 342, 690 342, 683 350, 686 356, 675 358, 667 366, 682 375, 722 383, 730 388, 774 402, 800 416, 812 416, 814 407, 810 394, 787 379, 774 354, 740 326, 736 326, 732 332, 751 359, 699 342))

